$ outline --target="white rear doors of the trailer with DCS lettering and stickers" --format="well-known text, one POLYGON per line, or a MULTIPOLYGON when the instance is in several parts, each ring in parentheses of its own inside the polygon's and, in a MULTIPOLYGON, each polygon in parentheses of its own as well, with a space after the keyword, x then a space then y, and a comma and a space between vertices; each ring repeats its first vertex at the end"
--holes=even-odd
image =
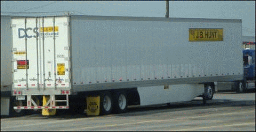
POLYGON ((13 88, 70 89, 68 17, 12 19, 13 88))

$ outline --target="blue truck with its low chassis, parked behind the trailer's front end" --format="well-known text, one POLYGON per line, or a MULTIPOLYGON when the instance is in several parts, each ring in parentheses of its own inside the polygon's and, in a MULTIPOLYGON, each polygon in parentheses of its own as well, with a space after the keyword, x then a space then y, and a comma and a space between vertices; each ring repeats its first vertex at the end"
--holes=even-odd
POLYGON ((255 91, 255 49, 243 50, 243 62, 244 79, 241 81, 217 82, 217 91, 236 91, 237 93, 244 93, 248 90, 255 91))

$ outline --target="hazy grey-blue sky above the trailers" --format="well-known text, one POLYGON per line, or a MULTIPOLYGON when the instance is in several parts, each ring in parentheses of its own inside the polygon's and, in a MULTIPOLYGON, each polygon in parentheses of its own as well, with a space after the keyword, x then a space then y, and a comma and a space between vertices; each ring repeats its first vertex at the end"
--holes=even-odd
MULTIPOLYGON (((165 1, 1 1, 1 15, 10 12, 75 11, 76 15, 164 17, 165 1)), ((255 1, 169 1, 169 17, 242 19, 243 36, 255 36, 255 1)), ((26 14, 32 15, 32 14, 26 14)), ((35 14, 33 14, 35 15, 35 14)))

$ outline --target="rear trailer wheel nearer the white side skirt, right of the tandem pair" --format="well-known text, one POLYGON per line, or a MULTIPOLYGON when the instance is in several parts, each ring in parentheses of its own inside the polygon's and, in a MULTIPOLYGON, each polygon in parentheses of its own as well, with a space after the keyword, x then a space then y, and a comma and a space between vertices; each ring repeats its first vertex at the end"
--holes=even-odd
POLYGON ((127 110, 127 94, 125 92, 116 92, 114 95, 115 113, 124 113, 127 110))

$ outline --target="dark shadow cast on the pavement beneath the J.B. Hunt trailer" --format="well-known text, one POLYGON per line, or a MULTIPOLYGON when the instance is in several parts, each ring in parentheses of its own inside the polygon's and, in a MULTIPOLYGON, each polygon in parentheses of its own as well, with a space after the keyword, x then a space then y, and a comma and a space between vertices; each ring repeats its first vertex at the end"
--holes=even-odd
POLYGON ((207 100, 207 103, 203 105, 202 99, 194 99, 192 101, 171 103, 169 105, 154 105, 154 106, 140 106, 134 108, 128 108, 126 113, 122 114, 110 114, 110 115, 100 115, 100 116, 87 116, 81 113, 63 113, 61 115, 55 116, 42 116, 41 114, 36 114, 34 118, 38 119, 57 119, 57 120, 67 120, 67 119, 79 119, 79 118, 91 118, 91 117, 108 117, 108 116, 140 116, 140 115, 150 115, 163 112, 175 112, 184 110, 196 110, 196 109, 207 109, 207 108, 218 108, 218 107, 230 107, 230 106, 253 106, 255 107, 255 100, 243 100, 243 101, 233 101, 230 99, 212 99, 207 100))

